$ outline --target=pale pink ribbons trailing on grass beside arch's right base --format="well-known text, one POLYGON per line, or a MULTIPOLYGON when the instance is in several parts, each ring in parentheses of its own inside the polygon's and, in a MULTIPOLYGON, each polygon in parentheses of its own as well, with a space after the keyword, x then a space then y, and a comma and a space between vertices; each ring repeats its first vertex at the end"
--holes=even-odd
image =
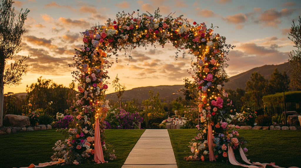
MULTIPOLYGON (((251 164, 251 165, 245 165, 245 164, 240 164, 236 161, 235 156, 234 156, 234 152, 231 146, 228 145, 228 158, 231 164, 233 165, 238 165, 238 166, 242 166, 242 167, 248 167, 248 168, 265 168, 266 165, 275 167, 275 168, 284 168, 284 167, 279 167, 275 164, 272 163, 259 163, 259 162, 253 162, 250 163, 250 161, 247 159, 246 155, 244 154, 243 149, 241 149, 241 147, 239 148, 239 153, 240 153, 240 157, 243 159, 244 162, 246 162, 247 164, 251 164), (257 166, 254 166, 257 165, 257 166)), ((299 167, 289 167, 289 168, 299 168, 299 167)))

